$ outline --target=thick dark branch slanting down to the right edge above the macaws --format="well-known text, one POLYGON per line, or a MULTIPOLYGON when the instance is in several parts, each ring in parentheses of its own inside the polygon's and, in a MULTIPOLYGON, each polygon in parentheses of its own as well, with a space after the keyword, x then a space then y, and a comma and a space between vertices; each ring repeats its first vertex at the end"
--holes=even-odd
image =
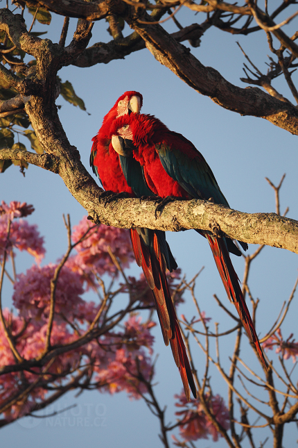
POLYGON ((152 55, 191 88, 207 95, 223 108, 241 115, 268 119, 276 126, 298 135, 298 111, 295 106, 279 101, 258 88, 243 89, 229 83, 215 69, 204 67, 188 48, 177 43, 160 25, 139 24, 131 17, 126 20, 145 40, 152 55))

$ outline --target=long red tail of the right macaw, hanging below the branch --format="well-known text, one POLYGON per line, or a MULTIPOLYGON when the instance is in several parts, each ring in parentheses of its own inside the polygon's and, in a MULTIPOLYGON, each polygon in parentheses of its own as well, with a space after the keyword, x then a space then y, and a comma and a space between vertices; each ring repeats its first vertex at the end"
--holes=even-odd
POLYGON ((256 347, 258 356, 267 369, 268 363, 265 360, 263 350, 261 349, 260 342, 258 341, 258 336, 256 335, 256 330, 254 329, 252 318, 249 315, 249 310, 246 306, 245 299, 240 288, 238 276, 234 270, 233 265, 231 264, 231 258, 229 258, 229 252, 225 243, 225 239, 214 238, 208 233, 205 233, 204 236, 206 236, 209 241, 214 260, 216 261, 216 266, 218 267, 218 272, 220 273, 222 283, 224 284, 225 290, 227 291, 227 296, 229 297, 229 300, 236 306, 237 313, 245 328, 249 340, 256 347))

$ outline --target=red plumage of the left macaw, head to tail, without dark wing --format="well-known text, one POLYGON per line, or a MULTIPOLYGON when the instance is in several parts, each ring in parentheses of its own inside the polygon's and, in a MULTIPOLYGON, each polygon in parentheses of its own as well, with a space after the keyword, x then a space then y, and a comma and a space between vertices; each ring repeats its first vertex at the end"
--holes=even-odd
MULTIPOLYGON (((92 139, 93 146, 91 149, 90 165, 98 178, 100 179, 105 190, 111 190, 115 193, 128 192, 132 197, 135 196, 132 188, 128 185, 121 164, 119 162, 119 154, 114 151, 111 144, 110 129, 114 122, 121 116, 128 117, 130 101, 139 98, 139 108, 141 108, 143 98, 138 92, 125 92, 114 104, 109 113, 103 119, 103 125, 98 131, 97 135, 92 139), (119 108, 120 103, 120 108, 119 108)), ((139 110, 132 110, 132 112, 139 112, 139 110)), ((133 114, 134 115, 134 114, 133 114)), ((152 193, 155 193, 154 185, 152 186, 152 193)), ((170 297, 168 282, 166 280, 166 262, 164 254, 162 254, 159 244, 159 238, 164 238, 155 231, 148 229, 131 229, 130 237, 132 240, 132 247, 134 256, 139 266, 142 267, 143 272, 150 286, 155 306, 157 308, 157 315, 161 325, 161 331, 164 336, 166 345, 170 342, 171 349, 175 363, 179 368, 179 373, 182 377, 182 383, 186 398, 190 399, 189 386, 196 397, 195 383, 193 381, 193 374, 189 359, 187 358, 186 348, 182 339, 182 334, 179 328, 179 322, 173 306, 173 301, 170 297)), ((168 249, 170 250, 170 249, 168 249)))

